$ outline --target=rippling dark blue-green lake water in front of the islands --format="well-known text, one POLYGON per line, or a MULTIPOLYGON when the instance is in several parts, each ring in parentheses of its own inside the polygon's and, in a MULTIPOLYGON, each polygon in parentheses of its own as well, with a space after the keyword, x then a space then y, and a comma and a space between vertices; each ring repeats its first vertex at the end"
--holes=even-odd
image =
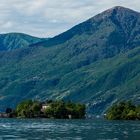
POLYGON ((140 121, 0 119, 0 140, 140 140, 140 121))

